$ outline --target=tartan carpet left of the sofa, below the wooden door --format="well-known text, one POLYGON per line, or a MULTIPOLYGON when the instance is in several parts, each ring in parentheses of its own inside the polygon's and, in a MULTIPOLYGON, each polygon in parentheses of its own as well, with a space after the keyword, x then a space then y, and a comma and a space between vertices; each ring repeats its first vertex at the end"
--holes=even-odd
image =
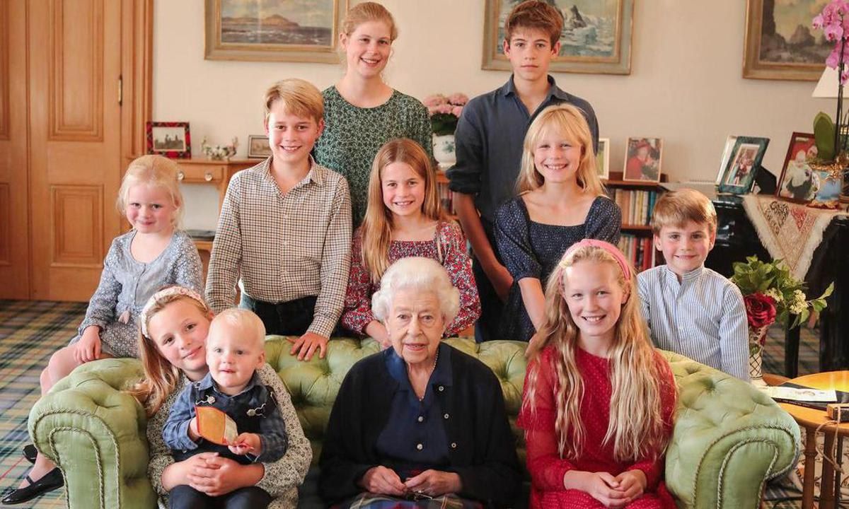
MULTIPOLYGON (((39 376, 50 355, 68 344, 87 303, 0 300, 0 490, 14 489, 30 469, 20 449, 30 442, 30 409, 41 390, 39 376)), ((65 507, 56 489, 15 507, 65 507)))

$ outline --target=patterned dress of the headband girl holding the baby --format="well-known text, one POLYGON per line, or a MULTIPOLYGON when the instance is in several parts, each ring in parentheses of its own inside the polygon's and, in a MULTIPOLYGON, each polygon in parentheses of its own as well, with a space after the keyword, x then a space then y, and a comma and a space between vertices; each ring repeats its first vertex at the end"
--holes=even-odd
MULTIPOLYGON (((298 421, 298 416, 295 414, 295 407, 292 406, 289 391, 286 390, 278 374, 268 364, 263 364, 256 372, 259 374, 261 382, 271 386, 274 394, 277 394, 280 415, 283 417, 286 424, 286 433, 289 435, 289 448, 286 449, 286 454, 273 463, 262 463, 262 466, 265 467, 265 474, 260 482, 256 483, 256 486, 265 489, 268 495, 273 497, 274 500, 268 506, 269 509, 295 507, 298 505, 298 485, 304 481, 306 471, 310 467, 310 461, 312 461, 312 448, 309 440, 304 436, 301 422, 298 421)), ((160 507, 168 506, 168 492, 162 486, 162 473, 165 472, 166 467, 174 462, 174 458, 171 457, 171 450, 168 449, 165 440, 162 439, 162 428, 165 427, 165 422, 168 419, 171 406, 177 400, 177 395, 183 392, 188 383, 188 378, 183 377, 177 389, 168 396, 168 399, 154 414, 154 417, 150 417, 148 420, 147 433, 150 445, 148 478, 155 492, 160 495, 160 507)))

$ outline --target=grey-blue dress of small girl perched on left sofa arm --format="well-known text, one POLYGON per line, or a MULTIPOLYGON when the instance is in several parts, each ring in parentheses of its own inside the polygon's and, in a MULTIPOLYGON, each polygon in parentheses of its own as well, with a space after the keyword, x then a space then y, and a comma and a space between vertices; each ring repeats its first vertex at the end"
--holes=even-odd
POLYGON ((88 301, 86 317, 78 335, 86 327, 100 327, 101 351, 115 357, 138 355, 138 314, 156 290, 178 284, 203 294, 203 266, 198 249, 185 232, 175 230, 171 243, 155 260, 141 263, 130 253, 136 231, 119 235, 112 241, 104 260, 98 289, 88 301))

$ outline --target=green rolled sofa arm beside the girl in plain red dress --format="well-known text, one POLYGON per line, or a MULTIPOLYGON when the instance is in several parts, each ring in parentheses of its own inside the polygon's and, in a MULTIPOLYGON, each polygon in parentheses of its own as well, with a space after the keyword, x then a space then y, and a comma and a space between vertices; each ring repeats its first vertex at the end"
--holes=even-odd
POLYGON ((679 392, 666 486, 679 507, 757 509, 766 480, 796 465, 799 426, 750 383, 667 358, 679 392))

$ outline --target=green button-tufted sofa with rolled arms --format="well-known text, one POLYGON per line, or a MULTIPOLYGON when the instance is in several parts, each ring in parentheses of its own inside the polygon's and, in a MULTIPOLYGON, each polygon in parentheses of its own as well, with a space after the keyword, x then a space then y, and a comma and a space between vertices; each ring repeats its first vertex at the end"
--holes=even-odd
MULTIPOLYGON (((492 368, 501 380, 514 426, 525 378, 526 344, 475 344, 469 338, 447 343, 492 368)), ((297 361, 289 349, 284 338, 267 338, 267 361, 290 390, 315 462, 342 378, 355 362, 378 351, 378 345, 373 340, 334 339, 325 359, 310 362, 297 361)), ((666 484, 678 506, 756 509, 765 480, 796 462, 800 442, 796 422, 749 384, 681 355, 664 355, 672 364, 679 390, 666 455, 666 484)), ((71 509, 155 507, 155 494, 146 477, 144 413, 132 397, 118 390, 141 374, 135 360, 90 362, 57 383, 32 408, 30 434, 38 449, 65 474, 71 509)), ((515 426, 514 431, 524 461, 524 439, 515 426)), ((301 487, 300 506, 321 504, 315 493, 315 470, 301 487)))

